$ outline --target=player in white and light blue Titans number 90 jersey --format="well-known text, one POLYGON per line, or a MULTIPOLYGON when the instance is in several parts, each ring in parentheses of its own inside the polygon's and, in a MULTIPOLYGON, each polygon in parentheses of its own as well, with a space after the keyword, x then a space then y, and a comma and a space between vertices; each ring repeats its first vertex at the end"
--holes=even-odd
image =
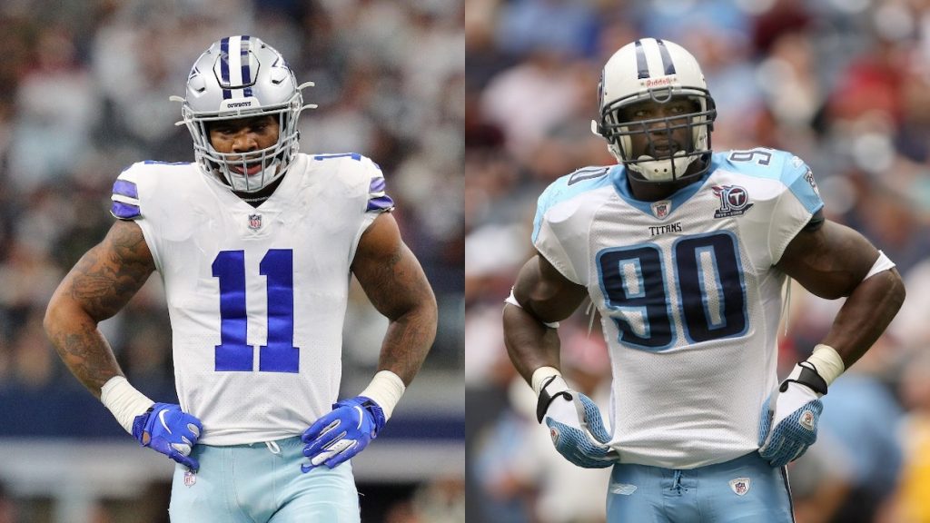
POLYGON ((533 243, 504 306, 508 352, 555 448, 613 466, 611 523, 790 522, 785 465, 817 437, 820 397, 904 300, 883 253, 825 220, 810 168, 782 151, 711 151, 716 115, 697 60, 643 38, 604 65, 593 130, 618 165, 539 197, 533 243), (829 334, 777 382, 789 278, 845 297, 829 334), (600 410, 559 372, 558 322, 598 307, 613 372, 600 410))

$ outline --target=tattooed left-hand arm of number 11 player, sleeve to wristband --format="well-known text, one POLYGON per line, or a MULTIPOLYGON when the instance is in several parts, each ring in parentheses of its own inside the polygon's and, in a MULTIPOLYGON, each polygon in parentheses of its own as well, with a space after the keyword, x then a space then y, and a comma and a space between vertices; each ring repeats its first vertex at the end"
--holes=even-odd
POLYGON ((100 398, 100 387, 122 375, 97 324, 122 309, 154 271, 139 225, 116 221, 103 241, 74 265, 48 303, 45 329, 68 369, 100 398))

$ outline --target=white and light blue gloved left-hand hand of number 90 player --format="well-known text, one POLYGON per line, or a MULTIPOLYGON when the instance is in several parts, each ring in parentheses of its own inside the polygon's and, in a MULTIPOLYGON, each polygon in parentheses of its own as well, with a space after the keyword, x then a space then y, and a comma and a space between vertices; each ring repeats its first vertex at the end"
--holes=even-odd
POLYGON ((607 446, 601 410, 591 398, 568 388, 561 376, 542 386, 537 420, 549 426, 552 444, 571 463, 584 468, 605 468, 618 463, 617 450, 607 446))

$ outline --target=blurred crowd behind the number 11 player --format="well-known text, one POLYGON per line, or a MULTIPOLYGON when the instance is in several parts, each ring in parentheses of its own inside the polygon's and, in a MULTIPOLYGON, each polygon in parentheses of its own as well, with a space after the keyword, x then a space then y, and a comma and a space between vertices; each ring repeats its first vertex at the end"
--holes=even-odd
MULTIPOLYGON (((304 90, 319 109, 299 122, 301 152, 357 152, 384 170, 394 216, 440 305, 424 372, 460 372, 464 10, 464 2, 445 0, 4 1, 0 436, 119 435, 109 420, 68 423, 87 410, 68 401, 95 400, 46 341, 46 302, 112 224, 109 198, 120 171, 146 159, 193 161, 190 135, 175 126, 179 104, 168 97, 184 94, 193 61, 230 34, 259 36, 282 52, 299 82, 315 82, 304 90), (63 433, 66 424, 76 432, 63 433)), ((170 329, 157 280, 101 329, 129 380, 172 401, 170 329)), ((387 326, 357 286, 349 309, 346 376, 375 369, 387 326)))

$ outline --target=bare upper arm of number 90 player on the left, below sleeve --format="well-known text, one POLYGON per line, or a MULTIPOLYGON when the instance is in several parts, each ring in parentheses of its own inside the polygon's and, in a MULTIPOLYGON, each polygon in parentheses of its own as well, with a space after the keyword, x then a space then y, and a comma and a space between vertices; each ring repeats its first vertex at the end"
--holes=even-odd
POLYGON ((543 256, 526 262, 513 284, 513 297, 526 312, 544 322, 572 315, 588 296, 588 289, 566 278, 543 256))

